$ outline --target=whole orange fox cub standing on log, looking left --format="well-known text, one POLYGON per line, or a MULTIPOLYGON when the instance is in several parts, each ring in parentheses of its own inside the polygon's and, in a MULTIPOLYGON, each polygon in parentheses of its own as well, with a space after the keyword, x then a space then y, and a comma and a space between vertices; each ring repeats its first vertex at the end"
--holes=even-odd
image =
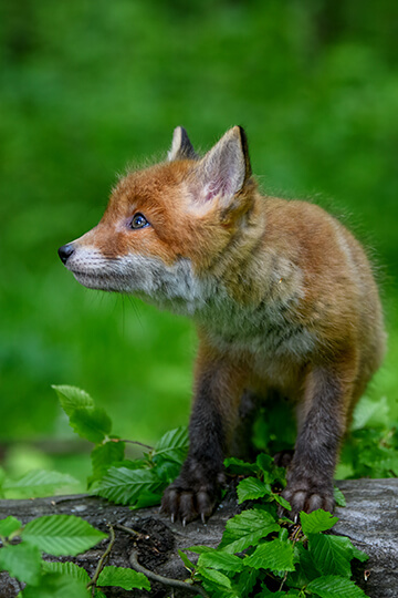
POLYGON ((378 287, 338 219, 261 194, 241 126, 202 156, 178 126, 167 158, 121 178, 100 223, 59 256, 90 289, 195 322, 189 450, 161 501, 172 522, 212 514, 248 395, 295 410, 289 516, 334 509, 339 446, 385 353, 378 287))

